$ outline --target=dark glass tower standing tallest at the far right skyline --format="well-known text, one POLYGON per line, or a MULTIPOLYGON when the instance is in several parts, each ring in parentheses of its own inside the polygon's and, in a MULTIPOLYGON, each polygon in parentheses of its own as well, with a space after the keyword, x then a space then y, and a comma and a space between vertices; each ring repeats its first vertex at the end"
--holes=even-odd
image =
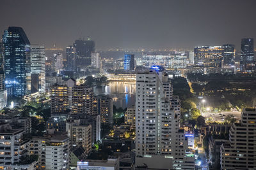
POLYGON ((241 40, 240 70, 243 72, 252 72, 254 67, 253 38, 243 38, 241 40))

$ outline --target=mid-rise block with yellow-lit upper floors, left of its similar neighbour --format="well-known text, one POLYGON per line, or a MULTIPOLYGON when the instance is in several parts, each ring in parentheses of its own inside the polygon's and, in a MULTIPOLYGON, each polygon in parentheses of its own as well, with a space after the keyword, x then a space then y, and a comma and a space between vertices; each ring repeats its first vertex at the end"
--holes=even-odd
POLYGON ((55 85, 51 87, 51 113, 63 113, 68 108, 68 87, 55 85))

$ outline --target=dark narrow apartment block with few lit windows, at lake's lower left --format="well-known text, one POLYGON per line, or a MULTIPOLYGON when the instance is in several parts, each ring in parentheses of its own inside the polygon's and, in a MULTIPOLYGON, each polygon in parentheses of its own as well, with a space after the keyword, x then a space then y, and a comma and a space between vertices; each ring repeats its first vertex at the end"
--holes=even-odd
POLYGON ((109 95, 97 96, 98 114, 102 124, 113 125, 113 99, 109 95))

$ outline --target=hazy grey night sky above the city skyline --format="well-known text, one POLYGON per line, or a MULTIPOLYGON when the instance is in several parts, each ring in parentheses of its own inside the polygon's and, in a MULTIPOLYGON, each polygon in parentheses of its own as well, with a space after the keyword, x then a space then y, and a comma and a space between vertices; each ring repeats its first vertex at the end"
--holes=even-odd
POLYGON ((1 0, 0 33, 20 26, 31 43, 61 48, 191 48, 256 38, 255 0, 1 0))

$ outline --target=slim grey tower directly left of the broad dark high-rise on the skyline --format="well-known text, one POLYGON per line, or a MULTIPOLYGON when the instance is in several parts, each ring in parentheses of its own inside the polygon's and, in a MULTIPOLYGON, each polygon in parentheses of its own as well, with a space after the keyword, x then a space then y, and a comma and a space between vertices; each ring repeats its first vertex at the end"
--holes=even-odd
POLYGON ((76 48, 73 46, 67 46, 67 70, 76 71, 76 48))

